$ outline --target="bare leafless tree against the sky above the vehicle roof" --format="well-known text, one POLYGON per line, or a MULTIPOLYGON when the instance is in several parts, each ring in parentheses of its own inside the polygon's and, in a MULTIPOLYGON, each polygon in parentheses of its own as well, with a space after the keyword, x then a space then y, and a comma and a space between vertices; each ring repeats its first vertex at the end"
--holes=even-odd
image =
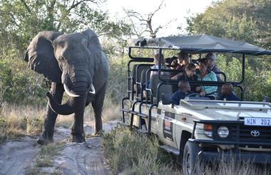
POLYGON ((148 33, 151 38, 156 38, 156 34, 160 30, 160 28, 164 28, 165 26, 168 26, 168 24, 173 21, 173 20, 168 21, 168 23, 165 23, 162 26, 159 25, 156 28, 153 28, 153 23, 152 23, 153 16, 155 15, 156 12, 162 9, 163 1, 164 0, 161 1, 160 5, 158 6, 158 9, 155 9, 155 11, 150 12, 147 16, 143 16, 142 14, 139 14, 137 11, 125 9, 127 17, 129 21, 131 22, 133 33, 135 33, 138 38, 143 38, 145 33, 148 33), (134 19, 138 20, 139 24, 136 23, 134 19))

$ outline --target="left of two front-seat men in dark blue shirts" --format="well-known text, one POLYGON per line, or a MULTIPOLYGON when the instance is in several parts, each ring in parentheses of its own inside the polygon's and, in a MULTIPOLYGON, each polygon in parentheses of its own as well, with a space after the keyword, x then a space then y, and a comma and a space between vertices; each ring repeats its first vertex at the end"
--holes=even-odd
POLYGON ((190 94, 190 85, 188 81, 182 80, 178 83, 179 90, 170 97, 170 102, 174 105, 180 105, 180 99, 184 99, 186 95, 190 94))

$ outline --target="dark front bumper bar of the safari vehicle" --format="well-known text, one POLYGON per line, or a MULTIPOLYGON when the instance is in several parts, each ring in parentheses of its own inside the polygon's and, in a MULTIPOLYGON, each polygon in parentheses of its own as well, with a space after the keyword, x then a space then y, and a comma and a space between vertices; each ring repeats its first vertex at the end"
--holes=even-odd
POLYGON ((245 161, 256 164, 271 164, 271 154, 267 153, 218 153, 218 152, 199 152, 198 157, 201 161, 245 161))

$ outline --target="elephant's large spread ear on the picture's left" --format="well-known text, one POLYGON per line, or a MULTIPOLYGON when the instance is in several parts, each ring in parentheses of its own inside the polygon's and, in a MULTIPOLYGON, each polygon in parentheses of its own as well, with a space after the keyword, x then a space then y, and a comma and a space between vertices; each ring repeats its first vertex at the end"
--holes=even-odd
POLYGON ((27 48, 24 60, 29 63, 29 68, 41 73, 44 77, 56 83, 61 83, 61 70, 53 52, 53 40, 61 33, 41 31, 31 41, 27 48))

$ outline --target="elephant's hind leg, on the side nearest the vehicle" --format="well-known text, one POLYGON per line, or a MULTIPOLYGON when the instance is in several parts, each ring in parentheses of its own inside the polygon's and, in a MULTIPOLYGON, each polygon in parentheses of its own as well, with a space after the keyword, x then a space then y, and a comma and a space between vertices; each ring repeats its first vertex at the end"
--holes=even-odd
POLYGON ((106 96, 106 83, 103 85, 101 90, 99 90, 98 94, 95 96, 94 100, 91 102, 94 112, 94 120, 95 120, 95 128, 92 133, 93 136, 101 135, 101 131, 103 129, 101 114, 103 110, 103 100, 106 96))

